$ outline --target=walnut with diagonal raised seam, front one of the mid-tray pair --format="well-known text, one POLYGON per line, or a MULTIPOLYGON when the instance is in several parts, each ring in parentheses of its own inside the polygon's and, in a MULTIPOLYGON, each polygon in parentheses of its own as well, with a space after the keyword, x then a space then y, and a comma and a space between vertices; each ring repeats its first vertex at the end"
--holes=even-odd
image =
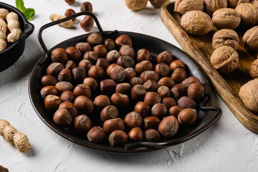
POLYGON ((238 54, 232 47, 221 46, 210 57, 210 62, 221 74, 233 72, 238 65, 238 54))

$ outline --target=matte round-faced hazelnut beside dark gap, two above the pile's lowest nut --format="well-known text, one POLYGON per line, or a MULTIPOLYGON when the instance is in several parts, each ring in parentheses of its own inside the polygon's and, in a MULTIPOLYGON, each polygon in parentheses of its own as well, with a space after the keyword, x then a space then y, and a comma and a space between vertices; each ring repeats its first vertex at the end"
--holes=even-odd
POLYGON ((118 116, 118 110, 115 106, 106 106, 100 113, 100 119, 102 122, 108 119, 114 119, 118 116))

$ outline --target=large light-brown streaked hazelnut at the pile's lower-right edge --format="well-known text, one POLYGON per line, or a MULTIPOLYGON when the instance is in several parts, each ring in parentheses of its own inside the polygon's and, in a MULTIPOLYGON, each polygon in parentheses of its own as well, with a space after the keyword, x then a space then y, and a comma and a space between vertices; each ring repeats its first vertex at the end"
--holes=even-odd
POLYGON ((158 130, 162 136, 171 138, 177 133, 178 128, 179 124, 177 119, 174 116, 167 116, 160 122, 158 130))

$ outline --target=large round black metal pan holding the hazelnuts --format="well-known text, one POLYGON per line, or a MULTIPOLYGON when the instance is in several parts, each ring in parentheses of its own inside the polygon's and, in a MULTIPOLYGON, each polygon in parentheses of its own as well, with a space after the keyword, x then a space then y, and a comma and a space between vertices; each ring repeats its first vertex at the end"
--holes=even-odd
MULTIPOLYGON (((112 31, 112 32, 104 32, 96 18, 92 13, 88 12, 80 12, 73 16, 64 18, 62 20, 52 22, 49 24, 46 24, 42 26, 38 31, 38 39, 39 42, 45 52, 45 54, 39 58, 38 62, 35 64, 32 73, 30 75, 29 79, 29 98, 31 101, 31 104, 36 111, 36 113, 39 115, 39 117, 45 122, 53 131, 55 131, 60 136, 66 138, 69 141, 72 141, 74 143, 78 143, 81 145, 84 145, 86 147, 90 147, 96 150, 100 151, 107 151, 107 152, 115 152, 115 153, 135 153, 135 152, 143 152, 143 151, 149 151, 154 150, 158 148, 165 148, 171 145, 175 145, 178 143, 185 142, 204 130, 206 130, 209 126, 214 124, 219 117, 221 116, 222 112, 220 108, 217 107, 210 107, 211 103, 211 87, 209 84, 209 81, 201 69, 201 67, 186 53, 184 53, 182 50, 178 49, 177 47, 173 46, 172 44, 165 42, 163 40, 160 40, 155 37, 151 37, 148 35, 140 34, 140 33, 134 33, 134 32, 127 32, 127 31, 112 31), (198 117, 194 125, 192 125, 189 128, 181 128, 179 129, 178 133, 172 138, 172 139, 163 139, 162 141, 155 143, 155 142, 141 142, 141 143, 128 143, 124 147, 113 147, 108 145, 108 143, 92 143, 87 141, 86 137, 81 138, 78 137, 70 132, 70 128, 61 128, 58 127, 54 121, 53 121, 53 114, 49 114, 49 112, 46 111, 44 107, 44 101, 42 97, 40 96, 40 89, 41 86, 41 78, 46 74, 46 68, 51 63, 51 52, 55 48, 63 48, 66 49, 70 46, 75 46, 78 42, 86 42, 88 34, 80 35, 73 37, 71 39, 68 39, 66 41, 63 41, 59 44, 57 44, 55 47, 50 49, 46 48, 43 40, 42 40, 42 31, 46 28, 49 28, 51 26, 57 25, 61 22, 67 21, 69 19, 72 19, 74 17, 78 17, 81 15, 90 15, 95 20, 97 27, 99 29, 99 32, 103 36, 103 40, 106 38, 111 38, 115 40, 115 38, 121 34, 127 34, 129 35, 133 40, 133 47, 137 51, 141 48, 146 48, 150 50, 153 61, 155 61, 155 57, 163 52, 163 51, 171 51, 175 59, 183 60, 187 66, 187 72, 190 75, 196 76, 200 79, 201 84, 205 87, 205 98, 201 102, 201 105, 198 109, 198 117), (208 113, 208 111, 215 111, 216 113, 208 113)), ((95 92, 96 93, 96 92, 95 92)), ((93 93, 94 97, 94 93, 93 93)), ((119 117, 122 119, 124 116, 132 111, 133 105, 130 105, 127 109, 124 108, 123 110, 119 111, 119 117)), ((103 126, 102 122, 100 121, 99 112, 94 111, 93 113, 89 114, 89 117, 91 118, 92 125, 97 126, 103 126)), ((126 131, 128 132, 128 131, 126 131)))

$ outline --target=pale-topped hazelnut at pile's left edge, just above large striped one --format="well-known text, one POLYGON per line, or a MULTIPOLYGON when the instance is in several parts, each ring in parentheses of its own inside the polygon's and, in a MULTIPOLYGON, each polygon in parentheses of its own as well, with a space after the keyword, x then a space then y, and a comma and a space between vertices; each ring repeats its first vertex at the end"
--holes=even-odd
POLYGON ((56 95, 47 95, 44 99, 45 108, 48 111, 57 111, 59 105, 62 103, 61 99, 56 95))

